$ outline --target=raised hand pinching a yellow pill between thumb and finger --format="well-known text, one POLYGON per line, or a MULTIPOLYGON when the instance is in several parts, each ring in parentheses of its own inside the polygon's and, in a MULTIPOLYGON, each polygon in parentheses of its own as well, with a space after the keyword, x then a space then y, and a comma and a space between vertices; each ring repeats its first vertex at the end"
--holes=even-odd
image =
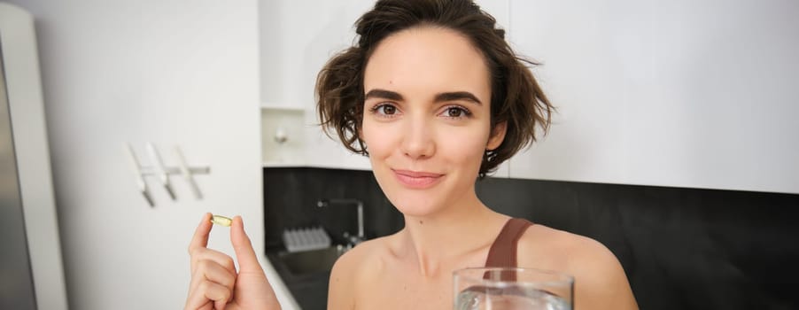
POLYGON ((250 237, 244 232, 241 216, 232 220, 206 213, 189 245, 191 283, 186 310, 280 309, 275 292, 260 267, 250 237), (230 242, 236 252, 239 270, 233 259, 208 249, 213 224, 230 227, 230 242))

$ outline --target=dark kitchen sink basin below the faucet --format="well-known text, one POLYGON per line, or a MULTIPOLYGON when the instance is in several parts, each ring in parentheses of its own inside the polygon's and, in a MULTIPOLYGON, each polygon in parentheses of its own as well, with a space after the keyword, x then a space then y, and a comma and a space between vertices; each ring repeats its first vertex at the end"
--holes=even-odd
POLYGON ((280 252, 277 258, 289 269, 291 275, 299 276, 330 272, 333 264, 344 252, 346 252, 344 246, 336 245, 303 252, 280 252))

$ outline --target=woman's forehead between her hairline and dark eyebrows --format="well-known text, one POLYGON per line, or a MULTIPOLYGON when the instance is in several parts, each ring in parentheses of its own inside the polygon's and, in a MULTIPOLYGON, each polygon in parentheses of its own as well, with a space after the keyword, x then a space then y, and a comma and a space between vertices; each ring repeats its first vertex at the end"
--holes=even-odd
POLYGON ((491 92, 485 58, 451 29, 415 27, 386 37, 368 60, 364 90, 491 92))

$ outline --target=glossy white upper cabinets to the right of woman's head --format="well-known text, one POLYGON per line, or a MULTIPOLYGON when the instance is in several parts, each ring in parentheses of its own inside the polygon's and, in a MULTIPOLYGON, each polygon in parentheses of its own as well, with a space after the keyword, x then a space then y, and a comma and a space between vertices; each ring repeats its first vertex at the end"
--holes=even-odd
POLYGON ((511 177, 799 193, 799 4, 510 4, 559 109, 511 177))

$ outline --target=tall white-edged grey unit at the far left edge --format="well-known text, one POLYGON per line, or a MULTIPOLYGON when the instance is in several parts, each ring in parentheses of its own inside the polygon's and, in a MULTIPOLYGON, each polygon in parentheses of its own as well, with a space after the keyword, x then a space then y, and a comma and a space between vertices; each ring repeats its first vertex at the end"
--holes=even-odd
POLYGON ((34 17, 0 2, 0 308, 66 310, 34 17), (38 298, 36 298, 38 297, 38 298))

